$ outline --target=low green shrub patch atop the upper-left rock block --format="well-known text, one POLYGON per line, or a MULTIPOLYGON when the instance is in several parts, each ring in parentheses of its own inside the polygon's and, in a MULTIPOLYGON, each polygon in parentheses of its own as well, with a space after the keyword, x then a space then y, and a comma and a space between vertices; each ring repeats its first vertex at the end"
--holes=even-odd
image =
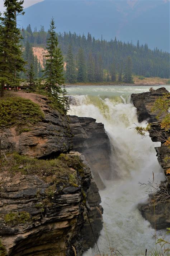
POLYGON ((0 99, 0 126, 34 124, 44 118, 38 104, 21 97, 0 99))

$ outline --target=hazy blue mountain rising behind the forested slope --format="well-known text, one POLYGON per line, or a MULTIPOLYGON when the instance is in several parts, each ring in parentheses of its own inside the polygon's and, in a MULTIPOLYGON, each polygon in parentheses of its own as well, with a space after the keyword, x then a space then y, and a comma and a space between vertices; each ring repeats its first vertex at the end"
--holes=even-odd
POLYGON ((44 0, 25 9, 19 25, 49 28, 55 19, 58 32, 90 32, 95 38, 115 36, 151 49, 169 51, 169 1, 166 0, 44 0))

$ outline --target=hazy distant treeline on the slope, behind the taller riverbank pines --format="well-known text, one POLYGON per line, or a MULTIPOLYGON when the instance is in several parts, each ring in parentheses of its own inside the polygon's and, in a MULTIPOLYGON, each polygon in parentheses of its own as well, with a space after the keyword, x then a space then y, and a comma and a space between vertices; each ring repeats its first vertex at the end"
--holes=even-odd
MULTIPOLYGON (((49 34, 44 31, 43 26, 40 31, 37 31, 36 28, 32 31, 30 25, 28 25, 26 29, 22 28, 22 36, 24 46, 27 41, 32 46, 46 46, 49 34)), ((140 45, 139 41, 134 45, 132 42, 123 43, 116 38, 106 41, 101 37, 101 40, 96 40, 90 33, 86 37, 71 32, 57 33, 57 37, 64 60, 68 59, 68 51, 72 51, 76 70, 79 70, 80 55, 83 56, 84 81, 89 81, 89 66, 94 69, 92 70, 94 74, 90 78, 92 79, 91 82, 120 81, 119 74, 125 72, 128 56, 132 60, 133 74, 146 77, 170 77, 170 54, 157 48, 154 50, 148 49, 147 44, 140 45), (71 49, 69 49, 69 46, 71 46, 71 49)), ((76 76, 79 76, 79 74, 76 74, 76 76)), ((81 79, 78 78, 79 80, 81 79)))

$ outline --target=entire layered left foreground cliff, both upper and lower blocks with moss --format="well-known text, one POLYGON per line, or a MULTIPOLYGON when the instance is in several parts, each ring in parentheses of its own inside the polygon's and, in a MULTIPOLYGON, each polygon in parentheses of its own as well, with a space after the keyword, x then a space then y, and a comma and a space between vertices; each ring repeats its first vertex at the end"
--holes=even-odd
POLYGON ((61 154, 73 147, 65 115, 45 96, 19 96, 36 102, 44 118, 0 130, 0 252, 81 256, 102 229, 90 167, 79 152, 61 154))

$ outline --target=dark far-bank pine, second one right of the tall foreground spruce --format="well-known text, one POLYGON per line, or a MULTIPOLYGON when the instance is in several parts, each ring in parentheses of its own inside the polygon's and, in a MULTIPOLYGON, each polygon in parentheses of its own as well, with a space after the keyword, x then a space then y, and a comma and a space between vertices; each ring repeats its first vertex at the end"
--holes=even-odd
POLYGON ((86 81, 86 64, 85 64, 84 50, 82 48, 80 48, 79 52, 78 52, 77 81, 78 82, 85 82, 86 81))

